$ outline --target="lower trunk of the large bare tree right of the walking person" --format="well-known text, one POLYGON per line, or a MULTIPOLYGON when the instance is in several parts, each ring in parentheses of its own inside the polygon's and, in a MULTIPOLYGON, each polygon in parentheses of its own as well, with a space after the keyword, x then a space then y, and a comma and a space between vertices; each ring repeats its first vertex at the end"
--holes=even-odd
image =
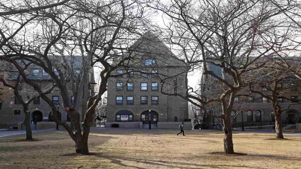
POLYGON ((233 154, 232 122, 230 117, 224 120, 224 134, 224 151, 226 154, 233 154))

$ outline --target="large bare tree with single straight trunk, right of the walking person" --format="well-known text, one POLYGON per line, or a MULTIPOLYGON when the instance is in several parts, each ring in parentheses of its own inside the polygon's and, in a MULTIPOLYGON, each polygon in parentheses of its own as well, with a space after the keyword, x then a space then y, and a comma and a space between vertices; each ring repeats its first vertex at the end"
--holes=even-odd
MULTIPOLYGON (((275 5, 264 1, 181 1, 173 0, 169 4, 156 2, 153 8, 163 12, 166 43, 172 45, 178 58, 182 58, 189 71, 201 67, 203 85, 200 91, 188 87, 186 78, 185 93, 163 94, 185 98, 202 108, 219 104, 218 118, 224 131, 224 151, 234 153, 232 137, 232 118, 234 98, 245 86, 243 77, 251 70, 265 64, 257 62, 259 58, 275 53, 272 49, 282 43, 281 37, 290 35, 288 29, 279 34, 279 16, 290 10, 289 5, 279 10, 275 5), (253 64, 257 62, 259 64, 253 64), (214 94, 206 91, 219 86, 214 94), (206 86, 207 87, 204 87, 206 86)), ((281 18, 283 19, 283 18, 281 18)), ((278 51, 290 46, 282 46, 278 51)), ((162 79, 164 86, 164 79, 162 79)), ((167 83, 165 83, 167 84, 167 83)), ((208 111, 210 112, 210 111, 208 111)))

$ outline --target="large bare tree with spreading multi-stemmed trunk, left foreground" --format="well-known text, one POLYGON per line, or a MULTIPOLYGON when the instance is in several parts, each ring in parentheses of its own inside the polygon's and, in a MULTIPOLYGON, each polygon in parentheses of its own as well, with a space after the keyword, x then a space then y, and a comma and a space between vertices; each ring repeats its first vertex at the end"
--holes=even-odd
POLYGON ((128 66, 133 49, 129 49, 137 37, 147 29, 148 12, 144 5, 135 1, 85 1, 62 5, 43 12, 27 13, 25 16, 2 17, 1 60, 13 63, 23 81, 38 88, 22 72, 18 60, 26 60, 42 68, 60 90, 63 106, 71 117, 74 130, 57 119, 57 110, 46 94, 39 95, 52 108, 52 118, 62 125, 75 142, 76 152, 87 154, 88 135, 94 120, 93 112, 101 95, 107 90, 111 72, 128 66), (11 25, 25 25, 20 30, 9 29, 11 25), (17 33, 14 33, 17 32, 17 33), (10 38, 7 38, 10 37, 10 38), (118 62, 113 62, 119 58, 118 62), (76 72, 76 68, 79 68, 76 72), (86 81, 93 80, 93 67, 100 67, 99 92, 88 99, 84 121, 80 123, 79 98, 86 81), (70 97, 73 96, 73 104, 70 97))

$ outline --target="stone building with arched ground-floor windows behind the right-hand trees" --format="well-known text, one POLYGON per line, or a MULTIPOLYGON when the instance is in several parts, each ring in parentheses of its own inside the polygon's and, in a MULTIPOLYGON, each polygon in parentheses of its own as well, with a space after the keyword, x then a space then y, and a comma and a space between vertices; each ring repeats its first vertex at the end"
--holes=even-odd
MULTIPOLYGON (((208 70, 213 71, 219 77, 222 77, 222 69, 218 66, 210 65, 207 66, 208 70)), ((205 75, 201 74, 200 85, 205 86, 207 92, 213 92, 212 86, 206 86, 205 75)), ((210 76, 208 77, 209 82, 213 80, 210 76)), ((298 79, 295 79, 295 84, 291 83, 291 87, 283 92, 282 95, 285 98, 291 98, 292 100, 297 100, 300 98, 301 88, 297 87, 296 84, 300 83, 298 79)), ((279 87, 287 84, 278 84, 279 87)), ((260 85, 254 85, 253 88, 262 88, 260 85)), ((259 89, 259 90, 260 90, 259 89)), ((247 91, 247 89, 245 90, 247 91)), ((268 92, 265 88, 262 88, 263 92, 268 92)), ((244 92, 244 91, 242 91, 244 92)), ((207 93, 208 95, 208 93, 207 93)), ((288 106, 296 101, 287 100, 284 98, 278 98, 279 104, 282 109, 288 109, 288 106)), ((235 117, 238 112, 240 112, 236 118, 233 119, 234 127, 240 127, 242 121, 244 121, 244 126, 268 126, 275 125, 275 115, 273 113, 273 107, 270 100, 267 98, 261 97, 259 94, 252 94, 249 97, 235 97, 234 105, 236 108, 231 112, 231 116, 235 117), (237 106, 242 105, 242 106, 237 106)), ((219 105, 214 106, 214 114, 219 115, 222 113, 221 107, 219 105)), ((291 105, 290 109, 282 113, 283 124, 296 124, 301 122, 301 104, 291 105)), ((208 124, 219 124, 219 122, 213 117, 204 117, 203 124, 205 126, 208 124)))

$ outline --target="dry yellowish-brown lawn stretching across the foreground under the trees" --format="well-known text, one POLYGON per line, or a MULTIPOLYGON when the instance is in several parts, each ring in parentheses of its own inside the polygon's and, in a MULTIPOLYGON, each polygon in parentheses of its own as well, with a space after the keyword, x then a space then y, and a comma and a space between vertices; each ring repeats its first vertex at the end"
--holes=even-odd
POLYGON ((66 131, 0 138, 0 168, 142 168, 194 169, 301 168, 301 137, 274 140, 275 134, 235 132, 234 155, 225 155, 223 134, 215 131, 106 129, 92 130, 91 155, 75 154, 66 131), (17 140, 17 141, 16 141, 17 140))

